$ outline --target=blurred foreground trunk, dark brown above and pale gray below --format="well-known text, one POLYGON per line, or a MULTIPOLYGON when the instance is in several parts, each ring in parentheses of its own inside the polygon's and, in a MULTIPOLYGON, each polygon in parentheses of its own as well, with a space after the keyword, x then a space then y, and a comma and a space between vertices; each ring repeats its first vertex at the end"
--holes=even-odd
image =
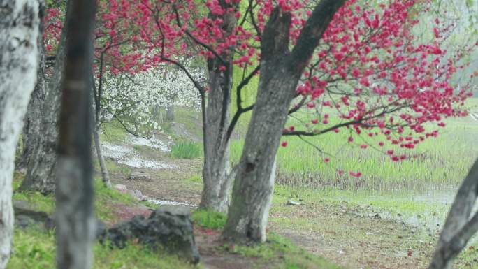
POLYGON ((92 48, 94 0, 71 0, 57 159, 57 268, 92 267, 92 48))

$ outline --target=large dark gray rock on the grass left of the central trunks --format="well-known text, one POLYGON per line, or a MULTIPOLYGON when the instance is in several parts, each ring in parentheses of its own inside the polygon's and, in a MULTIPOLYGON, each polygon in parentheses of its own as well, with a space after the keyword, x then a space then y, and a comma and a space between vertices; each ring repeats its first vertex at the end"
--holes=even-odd
POLYGON ((198 263, 200 256, 194 240, 189 208, 164 205, 154 210, 147 219, 137 215, 129 221, 106 229, 99 235, 100 242, 113 247, 125 247, 126 242, 138 240, 153 249, 164 249, 171 254, 198 263))

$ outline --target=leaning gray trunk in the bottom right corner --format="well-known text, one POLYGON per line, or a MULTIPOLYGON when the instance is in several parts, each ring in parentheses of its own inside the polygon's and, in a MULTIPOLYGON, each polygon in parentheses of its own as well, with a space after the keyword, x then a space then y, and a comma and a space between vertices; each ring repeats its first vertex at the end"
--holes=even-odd
POLYGON ((478 159, 463 180, 443 226, 429 269, 449 269, 455 257, 478 231, 478 212, 471 215, 478 198, 478 159))

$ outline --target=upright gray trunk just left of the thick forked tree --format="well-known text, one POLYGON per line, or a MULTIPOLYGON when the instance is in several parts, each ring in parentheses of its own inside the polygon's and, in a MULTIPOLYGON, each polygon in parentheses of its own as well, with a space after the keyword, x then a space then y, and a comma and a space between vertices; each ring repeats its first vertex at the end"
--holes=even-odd
MULTIPOLYGON (((226 1, 219 1, 222 6, 231 8, 226 1)), ((237 21, 233 12, 224 15, 222 24, 226 33, 231 34, 237 21)), ((222 59, 208 61, 210 92, 203 119, 204 168, 203 192, 200 208, 217 212, 227 212, 231 193, 232 177, 229 168, 229 117, 232 93, 233 54, 222 55, 222 59), (221 66, 226 70, 221 70, 221 66)), ((203 108, 204 109, 204 108, 203 108)))

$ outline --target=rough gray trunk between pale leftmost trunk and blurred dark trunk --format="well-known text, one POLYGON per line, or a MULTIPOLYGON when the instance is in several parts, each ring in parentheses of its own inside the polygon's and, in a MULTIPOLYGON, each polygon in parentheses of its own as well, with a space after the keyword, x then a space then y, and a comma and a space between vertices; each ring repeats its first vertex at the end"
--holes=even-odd
POLYGON ((55 191, 58 119, 66 43, 64 31, 61 33, 55 69, 48 81, 47 92, 45 96, 35 93, 29 104, 23 152, 24 158, 27 159, 27 175, 20 186, 21 190, 39 191, 42 194, 55 191))

